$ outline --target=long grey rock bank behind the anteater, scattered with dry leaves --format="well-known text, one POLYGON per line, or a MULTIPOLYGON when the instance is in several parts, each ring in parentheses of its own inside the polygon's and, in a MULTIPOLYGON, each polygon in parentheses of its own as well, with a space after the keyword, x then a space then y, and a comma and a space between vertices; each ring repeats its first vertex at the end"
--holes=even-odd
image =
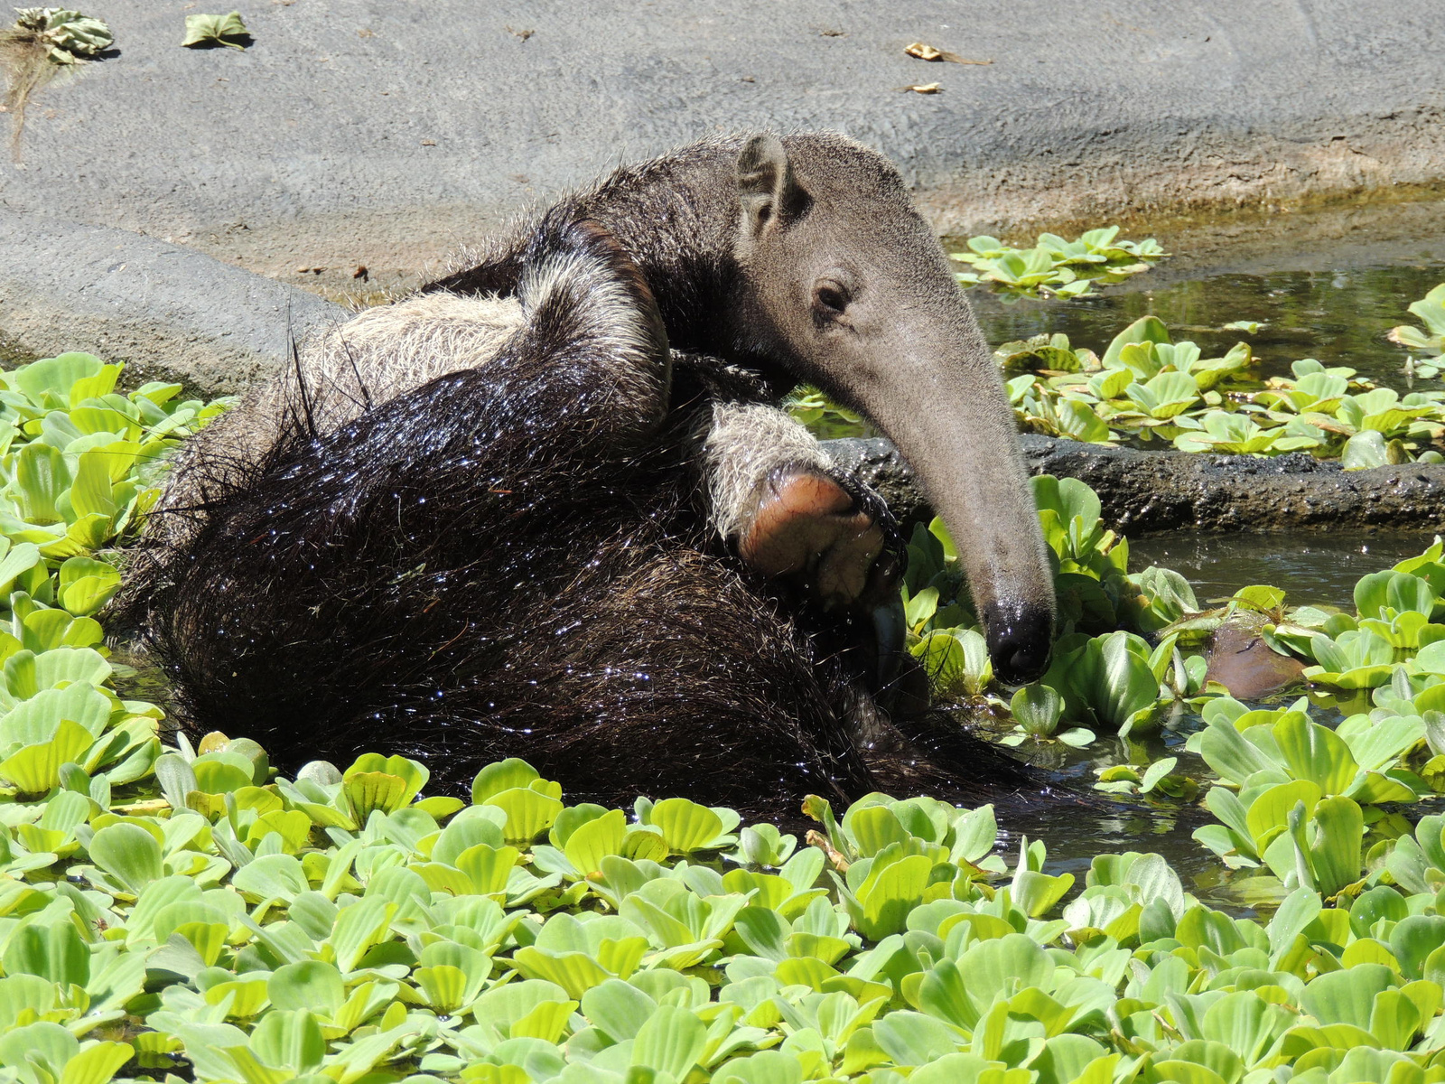
POLYGON ((1436 0, 273 0, 244 52, 179 48, 176 4, 98 13, 118 53, 38 94, 4 205, 335 289, 740 127, 877 146, 941 231, 1445 176, 1436 0))

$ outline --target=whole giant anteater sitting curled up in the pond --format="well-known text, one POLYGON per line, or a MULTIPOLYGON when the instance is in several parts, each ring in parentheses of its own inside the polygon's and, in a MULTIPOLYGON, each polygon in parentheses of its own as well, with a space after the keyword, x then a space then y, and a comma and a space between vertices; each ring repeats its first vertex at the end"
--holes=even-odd
POLYGON ((1046 659, 1052 577, 1012 412, 936 241, 877 155, 785 143, 620 171, 445 280, 519 305, 461 371, 436 347, 452 331, 434 343, 423 318, 397 332, 393 374, 377 312, 360 356, 322 353, 325 386, 303 356, 299 379, 204 434, 130 595, 186 726, 256 737, 292 767, 400 750, 457 789, 522 756, 575 799, 683 793, 777 818, 808 792, 1038 789, 948 721, 880 707, 867 608, 899 546, 867 541, 887 526, 876 497, 835 480, 863 526, 827 542, 848 572, 831 613, 805 603, 831 558, 750 548, 814 538, 834 512, 769 502, 828 468, 776 452, 760 402, 730 405, 816 380, 910 455, 996 669, 1046 659), (734 369, 675 367, 669 332, 734 369))

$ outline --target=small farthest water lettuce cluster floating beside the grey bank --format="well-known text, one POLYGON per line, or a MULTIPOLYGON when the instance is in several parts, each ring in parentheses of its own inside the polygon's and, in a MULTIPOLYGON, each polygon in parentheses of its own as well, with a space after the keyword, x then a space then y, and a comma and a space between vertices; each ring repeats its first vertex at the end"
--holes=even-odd
POLYGON ((970 286, 985 282, 1013 296, 1085 296, 1095 285, 1123 282, 1168 256, 1153 237, 1118 240, 1117 225, 1088 230, 1075 241, 1040 233, 1032 249, 1014 249, 997 237, 970 237, 965 244, 967 249, 951 256, 972 270, 957 272, 954 278, 970 286))

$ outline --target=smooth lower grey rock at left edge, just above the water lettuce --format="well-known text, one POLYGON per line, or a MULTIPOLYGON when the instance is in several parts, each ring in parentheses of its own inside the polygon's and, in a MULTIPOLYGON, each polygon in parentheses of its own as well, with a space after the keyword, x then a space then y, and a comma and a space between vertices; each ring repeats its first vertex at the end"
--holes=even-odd
POLYGON ((129 382, 238 392, 340 305, 126 230, 0 211, 0 347, 10 360, 87 350, 129 382))

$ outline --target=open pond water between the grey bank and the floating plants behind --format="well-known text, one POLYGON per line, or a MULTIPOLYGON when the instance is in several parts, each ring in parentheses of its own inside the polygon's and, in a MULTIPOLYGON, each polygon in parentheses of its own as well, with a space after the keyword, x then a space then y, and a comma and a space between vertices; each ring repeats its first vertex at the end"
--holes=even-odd
MULTIPOLYGON (((1143 224, 1123 236, 1156 236, 1172 254, 1153 270, 1090 298, 1012 298, 985 286, 970 289, 988 343, 997 347, 1064 332, 1075 348, 1103 354, 1129 324, 1156 315, 1175 340, 1194 340, 1205 357, 1247 340, 1261 360, 1261 376, 1287 376, 1292 361, 1315 357, 1403 392, 1410 387, 1406 351, 1386 334, 1418 322, 1406 306, 1445 282, 1445 201, 1439 199, 1159 230, 1143 224), (1264 327, 1254 334, 1221 330, 1233 321, 1264 327)), ((1004 240, 1032 244, 1027 237, 1004 240)), ((1416 384, 1439 387, 1438 380, 1416 384)))

